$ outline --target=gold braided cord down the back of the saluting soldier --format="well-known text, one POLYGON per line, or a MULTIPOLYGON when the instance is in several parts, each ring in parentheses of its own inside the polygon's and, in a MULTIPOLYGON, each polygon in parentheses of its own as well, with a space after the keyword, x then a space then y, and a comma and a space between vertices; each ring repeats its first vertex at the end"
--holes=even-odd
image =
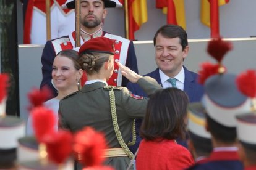
MULTIPOLYGON (((116 137, 121 145, 122 149, 126 154, 129 156, 130 159, 134 157, 134 154, 130 152, 129 148, 126 145, 126 142, 124 142, 124 139, 122 139, 121 132, 117 123, 117 116, 116 116, 116 99, 114 97, 114 91, 113 88, 111 88, 111 91, 109 91, 109 98, 110 98, 110 108, 111 108, 111 116, 112 116, 112 121, 113 121, 113 126, 114 126, 114 131, 116 132, 116 137)), ((134 121, 135 123, 135 121, 134 121)), ((134 132, 134 131, 132 131, 134 132)), ((132 140, 134 139, 134 136, 132 135, 132 140)), ((136 137, 135 137, 136 139, 136 137)), ((132 141, 134 142, 134 141, 132 141)))

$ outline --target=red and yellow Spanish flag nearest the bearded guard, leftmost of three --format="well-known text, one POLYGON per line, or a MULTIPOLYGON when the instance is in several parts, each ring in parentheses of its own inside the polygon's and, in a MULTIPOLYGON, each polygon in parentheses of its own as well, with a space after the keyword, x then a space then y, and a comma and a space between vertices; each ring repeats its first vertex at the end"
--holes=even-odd
POLYGON ((126 32, 128 32, 128 39, 135 40, 135 31, 139 30, 140 26, 148 20, 147 0, 119 0, 119 2, 124 5, 127 4, 126 18, 128 23, 126 32))

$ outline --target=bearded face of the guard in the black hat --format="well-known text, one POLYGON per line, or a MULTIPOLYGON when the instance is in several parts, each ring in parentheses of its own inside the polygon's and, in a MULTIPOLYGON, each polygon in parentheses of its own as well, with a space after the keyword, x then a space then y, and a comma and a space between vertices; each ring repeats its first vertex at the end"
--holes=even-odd
POLYGON ((80 23, 86 28, 96 28, 106 17, 106 9, 101 0, 81 0, 80 23))

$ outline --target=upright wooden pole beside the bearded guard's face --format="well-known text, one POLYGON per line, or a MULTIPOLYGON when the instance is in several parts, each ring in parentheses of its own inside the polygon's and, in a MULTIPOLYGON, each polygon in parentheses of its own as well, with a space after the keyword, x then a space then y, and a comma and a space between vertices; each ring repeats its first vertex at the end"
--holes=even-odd
POLYGON ((80 47, 80 0, 75 0, 75 47, 80 47))

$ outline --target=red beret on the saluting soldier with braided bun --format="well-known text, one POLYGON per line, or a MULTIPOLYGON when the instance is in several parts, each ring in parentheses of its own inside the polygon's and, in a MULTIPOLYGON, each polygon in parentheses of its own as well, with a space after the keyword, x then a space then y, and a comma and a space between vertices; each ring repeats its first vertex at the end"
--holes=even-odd
POLYGON ((103 36, 90 39, 80 47, 78 54, 88 52, 100 52, 114 55, 114 40, 103 36))

